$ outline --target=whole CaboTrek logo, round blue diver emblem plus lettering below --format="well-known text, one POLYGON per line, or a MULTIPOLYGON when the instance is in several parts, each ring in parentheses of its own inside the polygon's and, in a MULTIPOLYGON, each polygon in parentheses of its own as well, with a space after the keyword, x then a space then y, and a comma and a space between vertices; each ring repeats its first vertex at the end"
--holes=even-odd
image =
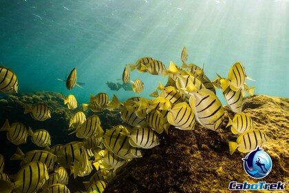
MULTIPOLYGON (((267 176, 272 169, 272 159, 264 152, 263 149, 257 148, 249 152, 244 161, 244 170, 248 176, 254 179, 262 179, 267 176)), ((237 183, 237 181, 231 181, 229 184, 229 190, 285 190, 286 183, 266 183, 265 181, 259 181, 258 183, 237 183)))

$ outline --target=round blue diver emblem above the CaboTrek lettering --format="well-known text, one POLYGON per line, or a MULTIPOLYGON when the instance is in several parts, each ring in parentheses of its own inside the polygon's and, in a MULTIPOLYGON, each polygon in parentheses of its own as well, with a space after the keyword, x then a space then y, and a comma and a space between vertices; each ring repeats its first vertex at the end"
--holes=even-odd
POLYGON ((272 169, 272 159, 259 146, 242 160, 245 172, 254 179, 264 178, 272 169))

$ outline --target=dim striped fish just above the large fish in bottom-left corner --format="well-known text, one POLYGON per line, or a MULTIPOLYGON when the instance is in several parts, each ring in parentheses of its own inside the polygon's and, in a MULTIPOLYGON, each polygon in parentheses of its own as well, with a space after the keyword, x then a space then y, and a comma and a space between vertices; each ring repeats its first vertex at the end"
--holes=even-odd
POLYGON ((16 152, 10 158, 10 160, 22 160, 21 166, 26 165, 32 161, 42 161, 45 163, 48 170, 53 169, 56 159, 56 155, 45 150, 32 150, 24 154, 18 147, 16 152))

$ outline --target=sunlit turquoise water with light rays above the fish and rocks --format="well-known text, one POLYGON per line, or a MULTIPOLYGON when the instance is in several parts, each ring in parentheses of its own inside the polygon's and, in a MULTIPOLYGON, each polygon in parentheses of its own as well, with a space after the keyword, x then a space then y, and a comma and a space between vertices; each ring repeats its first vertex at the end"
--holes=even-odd
MULTIPOLYGON (((121 79, 127 63, 153 57, 188 62, 210 79, 226 77, 236 61, 256 81, 256 94, 288 98, 288 0, 206 1, 8 1, 0 2, 0 62, 19 79, 19 92, 74 94, 87 103, 89 93, 107 92, 124 100, 132 91, 111 91, 107 81, 121 79), (84 89, 69 91, 65 75, 76 67, 84 89)), ((131 72, 148 96, 167 77, 131 72)), ((118 80, 121 83, 121 80, 118 80)))

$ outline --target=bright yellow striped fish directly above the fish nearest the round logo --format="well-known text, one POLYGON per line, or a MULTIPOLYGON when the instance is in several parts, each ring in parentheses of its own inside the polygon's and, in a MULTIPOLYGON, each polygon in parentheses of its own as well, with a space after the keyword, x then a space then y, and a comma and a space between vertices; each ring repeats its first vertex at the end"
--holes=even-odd
POLYGON ((235 114, 233 121, 229 117, 228 126, 231 126, 233 134, 242 134, 248 130, 253 130, 253 120, 244 112, 235 114))

